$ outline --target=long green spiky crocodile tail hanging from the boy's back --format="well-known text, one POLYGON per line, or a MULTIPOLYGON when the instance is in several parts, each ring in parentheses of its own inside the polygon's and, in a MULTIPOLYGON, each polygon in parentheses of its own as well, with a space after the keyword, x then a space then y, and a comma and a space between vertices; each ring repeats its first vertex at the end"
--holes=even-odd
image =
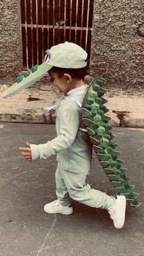
POLYGON ((108 124, 110 117, 105 115, 109 109, 104 106, 107 100, 103 98, 106 90, 101 88, 105 82, 103 78, 96 76, 88 87, 82 102, 84 123, 99 163, 112 186, 119 194, 126 197, 131 207, 139 207, 141 205, 137 199, 139 194, 133 192, 135 186, 129 184, 131 177, 126 176, 127 169, 121 167, 124 161, 118 159, 121 152, 115 150, 118 144, 112 142, 115 136, 111 131, 112 126, 108 124))

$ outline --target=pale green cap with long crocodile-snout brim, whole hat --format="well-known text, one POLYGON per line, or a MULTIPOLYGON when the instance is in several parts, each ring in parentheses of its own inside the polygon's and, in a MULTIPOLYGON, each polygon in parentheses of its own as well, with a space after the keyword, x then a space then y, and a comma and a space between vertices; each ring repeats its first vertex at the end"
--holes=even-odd
POLYGON ((84 68, 87 65, 87 53, 76 43, 59 43, 46 50, 44 63, 35 65, 16 78, 15 84, 1 87, 2 97, 7 98, 31 86, 42 78, 52 67, 84 68))

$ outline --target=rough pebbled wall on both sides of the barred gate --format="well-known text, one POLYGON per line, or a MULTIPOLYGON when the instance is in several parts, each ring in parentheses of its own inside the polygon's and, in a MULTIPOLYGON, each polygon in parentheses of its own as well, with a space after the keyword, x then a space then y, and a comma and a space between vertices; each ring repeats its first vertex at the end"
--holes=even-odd
MULTIPOLYGON (((0 79, 21 70, 20 0, 0 1, 0 79)), ((91 75, 107 86, 143 86, 143 0, 95 0, 91 75)))

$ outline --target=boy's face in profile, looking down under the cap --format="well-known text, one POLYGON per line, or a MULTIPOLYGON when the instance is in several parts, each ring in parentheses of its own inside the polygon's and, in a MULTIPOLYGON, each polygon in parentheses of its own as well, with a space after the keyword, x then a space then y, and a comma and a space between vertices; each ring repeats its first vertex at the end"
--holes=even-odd
POLYGON ((52 72, 49 70, 49 76, 51 77, 51 82, 53 86, 57 87, 59 89, 59 92, 68 92, 68 90, 71 90, 70 82, 68 82, 67 74, 63 75, 61 78, 59 78, 59 75, 55 72, 52 72))

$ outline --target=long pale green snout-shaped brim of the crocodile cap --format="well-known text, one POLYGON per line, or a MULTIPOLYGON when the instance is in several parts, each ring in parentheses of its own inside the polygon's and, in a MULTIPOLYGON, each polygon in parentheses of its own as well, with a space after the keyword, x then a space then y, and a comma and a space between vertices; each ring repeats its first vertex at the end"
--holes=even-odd
POLYGON ((28 86, 31 86, 35 82, 37 82, 40 78, 42 78, 45 73, 47 73, 52 68, 52 65, 49 64, 41 64, 38 66, 37 70, 34 73, 30 73, 26 78, 24 77, 21 82, 15 82, 12 86, 2 92, 2 97, 7 98, 15 93, 20 92, 23 89, 26 89, 28 86))

